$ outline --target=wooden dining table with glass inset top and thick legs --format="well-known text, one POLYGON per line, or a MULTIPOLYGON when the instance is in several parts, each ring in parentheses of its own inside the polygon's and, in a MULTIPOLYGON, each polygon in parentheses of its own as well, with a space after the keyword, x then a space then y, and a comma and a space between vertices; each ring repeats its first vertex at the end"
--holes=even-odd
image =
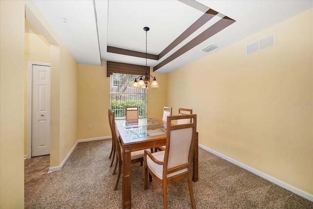
MULTIPOLYGON (((123 209, 132 208, 131 152, 152 149, 166 144, 166 121, 158 118, 116 120, 122 146, 123 209)), ((198 132, 196 132, 192 161, 192 180, 198 181, 198 132)))

